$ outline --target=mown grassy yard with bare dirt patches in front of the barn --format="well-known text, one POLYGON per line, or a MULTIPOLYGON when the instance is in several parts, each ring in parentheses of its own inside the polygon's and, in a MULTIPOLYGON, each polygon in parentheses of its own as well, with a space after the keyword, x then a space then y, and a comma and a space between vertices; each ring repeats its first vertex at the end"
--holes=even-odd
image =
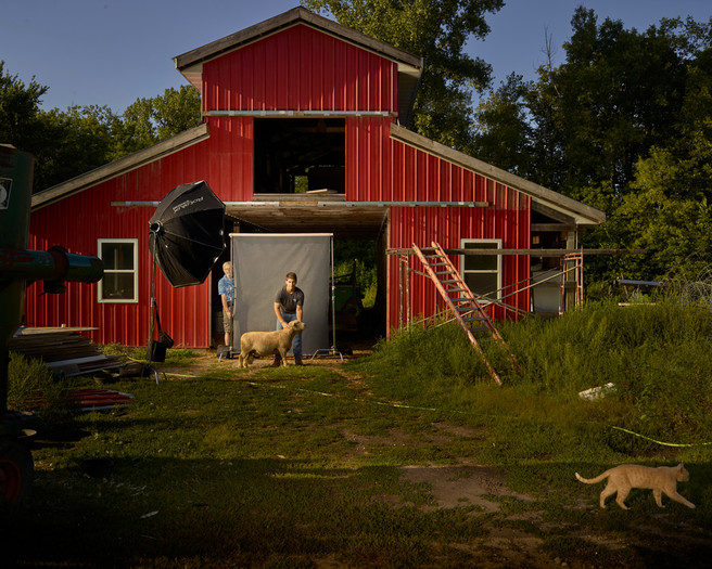
MULTIPOLYGON (((582 384, 593 385, 588 377, 543 387, 554 367, 543 379, 535 348, 525 350, 512 329, 505 337, 524 374, 493 386, 469 360, 476 357, 456 346, 457 333, 441 329, 345 364, 320 359, 279 370, 169 350, 157 385, 104 386, 131 393, 128 406, 40 429, 33 495, 0 510, 1 566, 709 565, 712 432, 699 410, 664 417, 664 405, 645 406, 630 370, 613 379, 631 387, 598 402, 577 397, 582 384), (432 358, 414 355, 411 346, 432 358), (105 457, 107 475, 80 467, 105 457), (634 490, 630 512, 612 500, 600 509, 603 483, 574 478, 626 462, 685 462, 690 481, 678 491, 697 508, 663 496, 660 509, 650 490, 634 490)), ((623 365, 596 341, 608 365, 623 365)), ((586 350, 590 359, 590 344, 571 342, 561 348, 569 360, 586 350)), ((649 346, 630 349, 663 365, 649 346)), ((704 406, 712 364, 694 363, 708 392, 698 387, 692 405, 704 406)), ((73 387, 97 386, 82 378, 73 387)), ((663 387, 657 397, 670 397, 663 387)))

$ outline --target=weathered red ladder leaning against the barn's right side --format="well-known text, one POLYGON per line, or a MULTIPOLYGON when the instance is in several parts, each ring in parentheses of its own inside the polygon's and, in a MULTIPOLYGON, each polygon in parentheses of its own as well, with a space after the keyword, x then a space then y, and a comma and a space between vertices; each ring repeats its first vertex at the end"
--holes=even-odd
POLYGON ((478 352, 490 376, 498 384, 501 385, 499 374, 492 366, 485 357, 480 344, 474 337, 475 332, 487 332, 492 338, 503 346, 509 353, 509 360, 514 368, 519 368, 514 354, 511 352, 505 339, 501 337, 492 320, 485 312, 484 308, 465 284, 460 273, 455 269, 455 266, 449 260, 443 248, 435 242, 432 242, 430 247, 418 247, 412 245, 416 255, 422 262, 428 275, 432 279, 433 283, 441 294, 450 312, 457 320, 460 327, 465 331, 472 348, 478 352))

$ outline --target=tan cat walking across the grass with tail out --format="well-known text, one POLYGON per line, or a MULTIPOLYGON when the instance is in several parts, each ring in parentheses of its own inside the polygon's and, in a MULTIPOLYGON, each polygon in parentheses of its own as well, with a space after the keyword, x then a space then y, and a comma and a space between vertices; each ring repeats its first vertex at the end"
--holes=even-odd
POLYGON ((625 505, 625 499, 633 488, 650 488, 656 503, 662 505, 662 493, 664 492, 671 500, 685 504, 687 507, 695 507, 695 504, 677 493, 677 482, 687 482, 689 473, 685 469, 683 463, 677 466, 640 466, 637 464, 622 464, 606 470, 596 478, 584 478, 576 473, 576 478, 586 484, 596 484, 608 478, 608 484, 603 488, 600 497, 600 506, 606 507, 606 499, 618 492, 615 502, 623 509, 628 509, 625 505))

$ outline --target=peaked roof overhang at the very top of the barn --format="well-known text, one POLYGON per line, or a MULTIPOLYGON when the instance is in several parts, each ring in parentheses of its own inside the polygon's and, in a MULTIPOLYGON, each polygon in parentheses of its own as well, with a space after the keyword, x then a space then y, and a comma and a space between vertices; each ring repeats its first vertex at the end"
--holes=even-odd
POLYGON ((202 75, 205 63, 297 24, 310 26, 395 62, 398 66, 398 118, 403 125, 408 124, 422 75, 422 59, 301 7, 177 55, 173 60, 176 68, 202 94, 202 75))

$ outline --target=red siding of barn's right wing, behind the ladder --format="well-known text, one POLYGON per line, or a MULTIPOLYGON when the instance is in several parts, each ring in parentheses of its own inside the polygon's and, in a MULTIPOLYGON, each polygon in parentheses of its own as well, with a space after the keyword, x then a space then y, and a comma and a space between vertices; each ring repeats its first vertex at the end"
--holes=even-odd
MULTIPOLYGON (((500 238, 504 248, 530 247, 527 196, 487 180, 471 170, 408 146, 390 138, 390 117, 346 119, 346 199, 364 202, 487 202, 487 207, 392 207, 390 247, 428 246, 432 241, 445 248, 459 248, 463 238, 500 238)), ((459 257, 453 258, 459 268, 459 257)), ((412 262, 417 264, 416 259, 412 262)), ((529 276, 527 256, 505 256, 501 263, 503 292, 529 276)), ((419 268, 422 269, 422 268, 419 268)), ((395 279, 397 258, 389 259, 395 279)), ((389 283, 389 323, 398 322, 398 286, 389 283)), ((424 277, 411 280, 411 312, 432 315, 442 310, 434 285, 424 277)), ((529 292, 507 303, 529 310, 529 292)), ((496 318, 511 316, 496 309, 496 318)))

